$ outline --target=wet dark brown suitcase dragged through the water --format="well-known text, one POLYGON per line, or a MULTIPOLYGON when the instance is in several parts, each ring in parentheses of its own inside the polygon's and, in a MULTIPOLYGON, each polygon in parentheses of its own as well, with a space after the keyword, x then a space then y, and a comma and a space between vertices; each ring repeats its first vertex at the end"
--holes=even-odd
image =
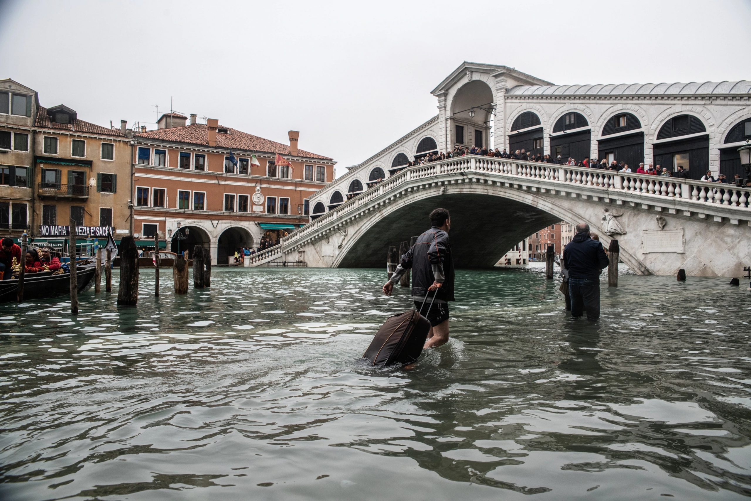
MULTIPOLYGON (((433 300, 436 300, 436 294, 433 294, 433 300)), ((425 306, 425 300, 422 306, 425 306)), ((425 315, 430 312, 431 307, 433 301, 430 301, 425 315)), ((422 307, 420 310, 422 311, 422 307)), ((421 311, 413 308, 387 318, 375 333, 363 358, 367 358, 371 365, 381 367, 391 364, 412 364, 416 361, 422 353, 427 333, 430 332, 430 321, 421 315, 421 311)))

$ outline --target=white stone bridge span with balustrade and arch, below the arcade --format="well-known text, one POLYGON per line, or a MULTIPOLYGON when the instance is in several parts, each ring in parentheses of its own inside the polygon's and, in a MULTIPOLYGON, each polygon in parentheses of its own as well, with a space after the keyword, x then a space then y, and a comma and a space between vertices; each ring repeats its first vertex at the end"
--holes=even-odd
POLYGON ((524 237, 586 222, 641 274, 740 276, 751 265, 751 188, 466 155, 407 168, 251 256, 258 266, 382 267, 388 246, 451 211, 457 267, 492 267, 524 237))

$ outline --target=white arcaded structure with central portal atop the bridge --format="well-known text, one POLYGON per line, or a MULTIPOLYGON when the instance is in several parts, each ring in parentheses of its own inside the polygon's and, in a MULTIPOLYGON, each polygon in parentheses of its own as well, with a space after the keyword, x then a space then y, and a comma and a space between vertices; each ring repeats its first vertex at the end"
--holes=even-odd
POLYGON ((312 196, 312 216, 407 161, 454 146, 641 161, 694 179, 745 177, 737 148, 751 139, 751 82, 564 85, 502 65, 464 62, 431 92, 438 114, 312 196))

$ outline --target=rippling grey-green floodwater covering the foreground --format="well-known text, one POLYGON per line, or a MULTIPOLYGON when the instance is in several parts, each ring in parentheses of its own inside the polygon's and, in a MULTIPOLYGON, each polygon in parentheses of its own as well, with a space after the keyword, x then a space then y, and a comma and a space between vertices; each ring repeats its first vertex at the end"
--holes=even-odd
MULTIPOLYGON (((541 268, 460 271, 451 341, 357 361, 382 270, 215 269, 175 297, 0 306, 0 499, 740 499, 751 291, 624 275, 573 320, 541 268)), ((114 282, 117 283, 115 273, 114 282)))

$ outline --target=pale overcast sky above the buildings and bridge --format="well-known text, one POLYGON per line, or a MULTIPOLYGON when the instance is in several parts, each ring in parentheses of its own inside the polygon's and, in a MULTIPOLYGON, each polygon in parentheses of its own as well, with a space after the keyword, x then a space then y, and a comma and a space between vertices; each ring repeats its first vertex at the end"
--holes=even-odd
POLYGON ((333 157, 338 173, 437 113, 463 61, 553 83, 751 80, 751 2, 0 0, 0 78, 81 119, 159 113, 333 157))

